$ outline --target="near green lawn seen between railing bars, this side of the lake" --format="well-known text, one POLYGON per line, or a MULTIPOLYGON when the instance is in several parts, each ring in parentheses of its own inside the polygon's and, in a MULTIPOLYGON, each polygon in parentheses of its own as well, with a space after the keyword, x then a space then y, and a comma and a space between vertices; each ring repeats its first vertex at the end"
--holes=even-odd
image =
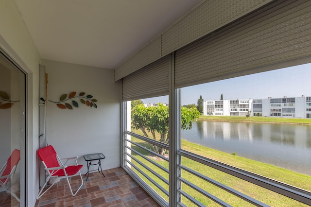
MULTIPOLYGON (((140 134, 139 131, 136 131, 136 133, 140 134)), ((137 138, 132 138, 135 142, 138 142, 145 147, 152 149, 151 145, 149 143, 143 142, 137 138)), ((149 156, 149 153, 141 148, 138 148, 135 145, 132 145, 132 147, 136 150, 138 150, 141 154, 145 156, 149 156)), ((230 155, 228 153, 224 153, 221 151, 217 151, 214 149, 207 148, 205 146, 201 146, 198 144, 194 144, 191 142, 188 142, 186 140, 182 140, 182 148, 184 150, 189 150, 191 152, 195 152, 199 155, 206 156, 208 158, 212 158, 215 160, 218 160, 220 162, 224 162, 226 164, 242 168, 247 171, 251 171, 254 173, 258 173, 260 175, 276 179, 278 181, 296 186, 301 189, 309 190, 311 191, 311 176, 295 173, 283 168, 279 168, 270 164, 254 161, 251 159, 247 159, 238 155, 230 155)), ((154 165, 152 165, 147 160, 141 158, 138 155, 133 155, 140 160, 142 163, 146 164, 153 170, 155 170, 157 173, 161 174, 163 177, 168 179, 168 174, 163 172, 162 170, 159 170, 154 165)), ((139 166, 137 162, 132 160, 133 163, 139 166)), ((168 162, 167 161, 161 161, 161 160, 155 160, 158 164, 164 166, 168 169, 168 162)), ((269 206, 286 206, 286 207, 299 207, 299 206, 306 206, 299 202, 296 202, 292 199, 289 199, 285 196, 281 196, 275 192, 272 192, 270 190, 266 190, 264 188, 261 188, 259 186, 256 186, 254 184, 251 184, 249 182, 246 182, 244 180, 241 180, 239 178, 236 178, 234 176, 228 175, 227 173, 220 172, 218 170, 215 170, 213 168, 207 167, 203 164, 197 163, 196 161, 187 159, 185 157, 182 158, 182 164, 198 173, 204 174, 207 177, 214 179, 220 183, 225 184, 226 186, 238 190, 252 198, 255 198, 269 206)), ((154 179, 158 184, 160 184, 164 189, 168 190, 168 185, 166 185, 164 182, 162 182, 160 179, 158 179, 155 175, 148 172, 146 169, 144 169, 142 166, 139 166, 141 170, 143 170, 145 173, 147 173, 152 179, 154 179)), ((135 171, 138 173, 137 171, 135 171)), ((168 201, 168 196, 166 196, 164 193, 162 193, 160 190, 158 190, 151 182, 147 181, 146 178, 138 173, 138 175, 146 181, 148 185, 150 185, 156 192, 158 192, 165 200, 168 201)), ((221 190, 218 187, 215 187, 211 184, 209 184, 207 181, 201 180, 200 178, 187 173, 185 171, 182 171, 182 177, 189 180, 191 183, 197 185, 198 187, 202 188, 203 190, 206 190, 208 193, 211 193, 212 195, 220 198, 221 200, 227 202, 228 204, 236 207, 248 207, 250 206, 249 203, 243 201, 242 199, 227 193, 225 190, 221 190)), ((182 185, 182 190, 186 191, 188 194, 193 196, 195 199, 200 201, 206 206, 217 206, 213 201, 208 199, 207 197, 203 196, 196 190, 191 189, 187 185, 182 185)), ((186 206, 194 206, 190 201, 188 201, 186 198, 183 197, 183 203, 186 206)))

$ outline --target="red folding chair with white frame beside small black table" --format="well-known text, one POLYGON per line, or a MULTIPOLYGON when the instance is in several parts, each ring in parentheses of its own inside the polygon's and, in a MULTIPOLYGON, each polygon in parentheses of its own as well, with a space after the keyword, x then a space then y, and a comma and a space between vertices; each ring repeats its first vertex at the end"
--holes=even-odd
POLYGON ((75 196, 77 194, 77 192, 83 186, 83 178, 82 178, 82 175, 80 173, 80 170, 83 167, 83 165, 78 165, 78 162, 77 162, 78 156, 69 157, 69 158, 62 158, 62 159, 67 159, 65 164, 63 164, 61 159, 56 154, 54 148, 51 145, 39 149, 37 153, 38 153, 38 156, 41 159, 41 161, 45 167, 46 174, 48 175, 48 177, 46 179, 45 184, 43 185, 43 187, 39 191, 36 199, 39 199, 45 192, 47 192, 55 184, 57 179, 55 179, 55 181, 52 183, 52 185, 47 190, 42 192, 43 189, 45 188, 45 186, 48 184, 51 177, 66 177, 71 195, 75 196), (70 159, 75 159, 76 165, 66 166, 68 160, 70 160, 70 159), (76 192, 73 193, 68 177, 71 177, 77 173, 80 174, 82 184, 79 186, 78 190, 76 190, 76 192))

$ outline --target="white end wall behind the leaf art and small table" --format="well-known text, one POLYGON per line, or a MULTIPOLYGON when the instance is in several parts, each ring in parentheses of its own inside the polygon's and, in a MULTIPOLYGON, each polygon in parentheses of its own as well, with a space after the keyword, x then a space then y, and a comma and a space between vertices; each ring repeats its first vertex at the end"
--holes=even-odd
MULTIPOLYGON (((62 94, 73 91, 92 95, 97 108, 87 107, 74 98, 79 107, 58 108, 47 101, 46 138, 60 157, 78 155, 78 163, 86 161, 83 155, 103 153, 103 169, 120 167, 120 109, 121 82, 114 82, 113 70, 42 60, 48 73, 47 99, 58 102, 62 94)), ((66 103, 72 105, 72 100, 66 103)), ((96 169, 96 166, 93 166, 96 169)))

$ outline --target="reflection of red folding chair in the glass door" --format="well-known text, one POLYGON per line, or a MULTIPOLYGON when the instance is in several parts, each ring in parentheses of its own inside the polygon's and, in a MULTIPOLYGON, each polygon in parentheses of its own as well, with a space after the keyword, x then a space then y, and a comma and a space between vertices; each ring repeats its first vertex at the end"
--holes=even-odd
POLYGON ((13 150, 11 156, 8 158, 8 160, 4 163, 0 170, 0 187, 5 188, 8 192, 11 193, 11 195, 17 199, 18 202, 20 202, 18 196, 11 191, 11 185, 9 181, 12 180, 12 177, 16 171, 17 164, 20 160, 20 151, 15 149, 13 150))

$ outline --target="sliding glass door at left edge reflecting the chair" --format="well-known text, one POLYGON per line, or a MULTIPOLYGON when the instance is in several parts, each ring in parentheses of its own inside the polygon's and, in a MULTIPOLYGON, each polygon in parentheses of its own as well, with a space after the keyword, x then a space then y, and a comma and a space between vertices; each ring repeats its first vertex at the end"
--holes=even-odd
POLYGON ((0 206, 25 206, 25 74, 0 52, 0 206))

